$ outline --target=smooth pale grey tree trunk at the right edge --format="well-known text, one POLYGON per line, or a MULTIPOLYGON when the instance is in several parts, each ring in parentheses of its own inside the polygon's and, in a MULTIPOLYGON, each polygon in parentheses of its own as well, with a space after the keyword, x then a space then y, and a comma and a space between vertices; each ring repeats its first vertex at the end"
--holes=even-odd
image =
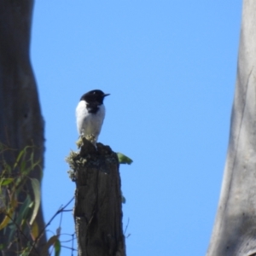
POLYGON ((256 1, 244 0, 230 144, 207 256, 256 253, 255 14, 256 1))

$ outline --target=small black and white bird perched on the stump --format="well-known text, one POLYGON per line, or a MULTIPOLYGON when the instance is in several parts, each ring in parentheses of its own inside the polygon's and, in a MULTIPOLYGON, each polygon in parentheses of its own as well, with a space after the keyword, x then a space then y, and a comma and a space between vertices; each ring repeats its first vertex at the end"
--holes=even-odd
POLYGON ((77 127, 80 136, 93 136, 95 142, 97 141, 105 117, 103 100, 108 95, 102 90, 90 90, 81 96, 76 108, 77 127))

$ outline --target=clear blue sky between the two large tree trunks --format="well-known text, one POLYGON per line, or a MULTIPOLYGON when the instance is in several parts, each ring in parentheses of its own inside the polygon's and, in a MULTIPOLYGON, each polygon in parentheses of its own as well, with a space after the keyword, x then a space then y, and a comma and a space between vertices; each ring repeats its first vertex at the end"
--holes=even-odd
MULTIPOLYGON (((99 142, 134 160, 120 167, 127 255, 206 253, 240 23, 241 1, 36 1, 31 58, 45 120, 45 221, 74 194, 64 159, 76 149, 76 105, 101 89, 111 96, 99 142)), ((71 212, 61 226, 73 233, 71 212)))

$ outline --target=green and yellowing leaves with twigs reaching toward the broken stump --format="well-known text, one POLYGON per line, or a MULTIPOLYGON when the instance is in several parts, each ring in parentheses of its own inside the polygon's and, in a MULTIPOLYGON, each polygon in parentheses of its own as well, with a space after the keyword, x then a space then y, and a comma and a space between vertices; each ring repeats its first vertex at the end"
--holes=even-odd
POLYGON ((64 212, 65 207, 71 201, 65 207, 61 207, 44 227, 38 226, 36 217, 41 204, 40 181, 37 178, 29 177, 35 167, 39 166, 41 170, 40 160, 34 160, 34 149, 32 146, 27 146, 17 154, 14 149, 0 143, 0 215, 3 216, 0 230, 9 236, 6 244, 0 244, 0 250, 6 250, 11 244, 19 243, 21 238, 26 241, 26 247, 22 247, 20 244, 20 252, 17 252, 17 255, 30 255, 34 250, 38 255, 46 256, 49 255, 49 248, 53 247, 55 255, 58 256, 61 253, 59 239, 61 228, 56 231, 55 236, 49 238, 40 253, 37 245, 46 227, 57 214, 64 212), (14 160, 9 161, 14 164, 9 164, 6 160, 7 151, 11 153, 8 155, 17 155, 14 160), (31 188, 32 193, 29 193, 28 187, 31 188), (20 195, 22 195, 22 201, 20 201, 20 195), (7 232, 8 229, 9 232, 7 232))

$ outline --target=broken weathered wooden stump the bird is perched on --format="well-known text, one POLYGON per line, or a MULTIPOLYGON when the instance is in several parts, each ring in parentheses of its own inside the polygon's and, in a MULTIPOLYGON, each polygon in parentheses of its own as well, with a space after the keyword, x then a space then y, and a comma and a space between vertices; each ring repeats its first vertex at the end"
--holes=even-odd
POLYGON ((117 154, 101 143, 96 149, 84 140, 74 165, 79 256, 125 256, 117 154))

